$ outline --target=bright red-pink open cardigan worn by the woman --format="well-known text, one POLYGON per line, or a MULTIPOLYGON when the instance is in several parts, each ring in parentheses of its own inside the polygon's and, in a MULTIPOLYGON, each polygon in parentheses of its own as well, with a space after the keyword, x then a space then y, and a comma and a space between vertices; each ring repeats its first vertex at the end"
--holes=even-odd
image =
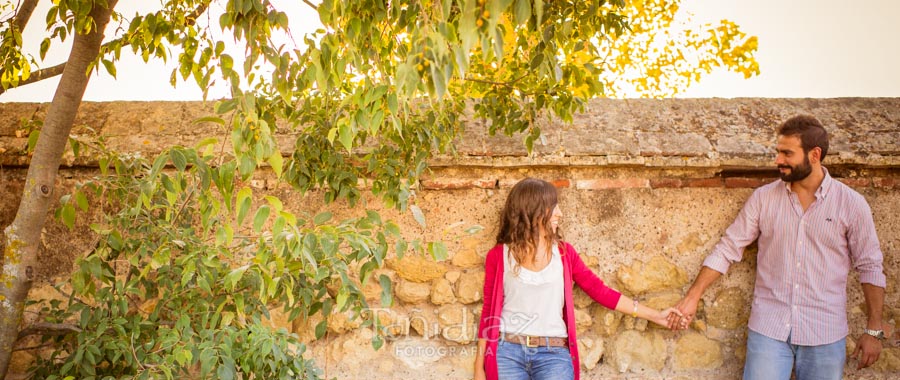
MULTIPOLYGON (((569 334, 569 354, 575 369, 575 380, 579 379, 578 343, 575 336, 575 306, 572 303, 572 283, 585 291, 601 305, 615 309, 622 295, 610 289, 581 261, 571 244, 560 243, 563 261, 563 286, 565 310, 563 321, 569 334)), ((488 251, 484 263, 484 305, 478 324, 478 338, 487 340, 484 353, 484 371, 488 380, 497 379, 497 342, 500 340, 500 312, 503 310, 503 245, 498 244, 488 251)))

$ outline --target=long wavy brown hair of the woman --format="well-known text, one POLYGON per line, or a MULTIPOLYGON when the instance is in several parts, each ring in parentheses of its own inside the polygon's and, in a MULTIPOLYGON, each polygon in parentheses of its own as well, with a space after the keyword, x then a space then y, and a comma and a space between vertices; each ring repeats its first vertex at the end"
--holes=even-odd
POLYGON ((550 217, 557 203, 556 187, 535 178, 519 181, 509 192, 500 214, 497 244, 509 246, 509 253, 516 259, 513 273, 519 273, 526 257, 534 258, 541 234, 546 237, 548 254, 562 238, 550 227, 550 217))

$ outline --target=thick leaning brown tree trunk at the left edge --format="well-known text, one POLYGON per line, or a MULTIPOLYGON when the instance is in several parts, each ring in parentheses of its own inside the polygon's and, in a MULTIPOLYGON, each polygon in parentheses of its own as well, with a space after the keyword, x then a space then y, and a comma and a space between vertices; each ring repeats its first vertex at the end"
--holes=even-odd
POLYGON ((103 31, 116 2, 109 0, 108 9, 99 6, 92 9, 90 15, 95 27, 88 34, 74 36, 66 69, 53 95, 28 167, 16 218, 4 230, 6 244, 3 271, 0 272, 0 378, 5 377, 9 367, 25 300, 34 280, 41 230, 47 211, 56 199, 53 194, 56 174, 90 79, 87 69, 100 53, 103 31))

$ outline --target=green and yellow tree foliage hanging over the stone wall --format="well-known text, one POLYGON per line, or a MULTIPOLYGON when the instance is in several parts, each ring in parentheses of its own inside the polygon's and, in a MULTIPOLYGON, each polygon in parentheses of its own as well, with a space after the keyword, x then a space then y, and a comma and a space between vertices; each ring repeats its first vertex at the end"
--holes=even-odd
MULTIPOLYGON (((326 202, 356 205, 365 182, 387 207, 415 210, 426 160, 452 153, 468 107, 490 133, 523 133, 531 149, 537 121, 570 120, 587 99, 627 86, 670 95, 716 66, 758 72, 755 38, 733 23, 668 34, 677 0, 305 3, 323 28, 293 47, 273 42, 289 15, 268 0, 170 0, 113 14, 92 72, 115 76, 130 50, 176 61, 173 84, 224 84, 231 97, 198 120, 221 136, 150 161, 80 143, 95 147, 102 174, 63 197, 58 216, 71 227, 90 210, 98 243, 78 260, 72 293, 45 310, 80 332, 46 338, 57 349, 37 375, 314 378, 297 337, 266 327, 271 308, 292 318, 350 310, 377 331, 360 286, 378 281, 390 305, 390 281, 371 278, 383 260, 409 249, 440 259, 446 248, 407 241, 365 205, 346 220, 297 213, 248 185, 260 168, 301 194, 320 189, 326 202), (244 56, 228 52, 231 39, 244 56), (286 152, 275 139, 283 131, 297 136, 286 152)), ((106 6, 55 0, 41 58, 90 32, 91 10, 106 6)), ((52 75, 33 70, 15 19, 0 24, 4 90, 52 75)))

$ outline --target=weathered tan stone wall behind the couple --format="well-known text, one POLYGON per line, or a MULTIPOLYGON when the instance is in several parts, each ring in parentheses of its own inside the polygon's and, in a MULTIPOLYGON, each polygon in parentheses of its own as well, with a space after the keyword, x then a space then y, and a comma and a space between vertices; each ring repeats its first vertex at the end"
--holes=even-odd
MULTIPOLYGON (((28 157, 22 118, 40 118, 46 105, 0 104, 0 225, 11 220, 28 157)), ((204 103, 87 103, 75 133, 91 130, 118 149, 153 154, 169 144, 226 135, 191 120, 210 112, 204 103), (90 129, 88 129, 88 127, 90 129)), ((848 379, 900 376, 900 99, 599 100, 572 124, 545 122, 545 137, 528 155, 520 137, 488 136, 482 121, 466 124, 456 156, 431 161, 416 202, 427 217, 386 211, 408 237, 444 236, 445 262, 407 255, 381 273, 393 281, 395 305, 381 311, 394 338, 371 349, 372 331, 346 315, 329 317, 328 335, 311 342, 310 355, 329 377, 471 378, 474 335, 481 311, 483 261, 493 245, 498 213, 509 189, 526 176, 552 181, 565 214, 561 230, 609 285, 663 308, 674 304, 755 187, 776 178, 774 127, 797 113, 822 120, 832 134, 825 164, 833 176, 869 201, 885 258, 888 286, 884 321, 890 334, 881 359, 848 379), (468 226, 484 230, 466 235, 468 226)), ((283 134, 285 147, 290 133, 283 134)), ((67 157, 60 186, 93 173, 89 160, 67 157)), ((318 211, 321 194, 300 197, 263 174, 257 192, 278 195, 297 209, 318 211)), ((377 201, 366 196, 368 204, 377 201)), ((357 210, 335 206, 338 215, 357 210)), ((51 224, 48 231, 60 232, 51 224)), ((78 238, 47 233, 39 273, 47 283, 64 278, 78 238)), ((86 239, 86 238, 85 238, 86 239)), ((81 245, 79 245, 81 244, 81 245)), ((670 332, 611 312, 580 291, 576 318, 584 378, 740 378, 746 323, 755 279, 755 247, 705 294, 691 329, 670 332)), ((373 300, 378 288, 367 289, 373 300)), ((865 325, 865 304, 851 274, 848 317, 854 347, 865 325)), ((373 304, 376 304, 374 302, 373 304)), ((275 324, 311 340, 316 321, 275 324)), ((852 352, 852 351, 848 351, 852 352)), ((21 361, 28 354, 19 354, 21 361)))

